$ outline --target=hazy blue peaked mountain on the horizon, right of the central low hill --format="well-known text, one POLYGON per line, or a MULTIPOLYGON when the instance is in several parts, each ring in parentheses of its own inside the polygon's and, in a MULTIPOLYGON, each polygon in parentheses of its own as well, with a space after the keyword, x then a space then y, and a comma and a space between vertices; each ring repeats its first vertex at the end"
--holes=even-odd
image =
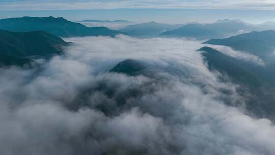
POLYGON ((188 24, 160 34, 161 37, 186 37, 198 40, 225 38, 259 28, 240 20, 219 20, 212 24, 188 24))

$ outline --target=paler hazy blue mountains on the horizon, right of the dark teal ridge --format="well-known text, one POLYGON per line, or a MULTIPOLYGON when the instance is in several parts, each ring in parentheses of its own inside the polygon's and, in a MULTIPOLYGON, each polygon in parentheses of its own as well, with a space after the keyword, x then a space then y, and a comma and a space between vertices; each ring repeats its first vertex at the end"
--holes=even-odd
POLYGON ((266 22, 253 25, 241 20, 218 20, 210 24, 186 23, 186 24, 162 24, 148 22, 136 25, 128 25, 120 32, 125 32, 133 37, 186 37, 198 40, 226 38, 232 35, 248 33, 251 31, 275 30, 275 22, 266 22))

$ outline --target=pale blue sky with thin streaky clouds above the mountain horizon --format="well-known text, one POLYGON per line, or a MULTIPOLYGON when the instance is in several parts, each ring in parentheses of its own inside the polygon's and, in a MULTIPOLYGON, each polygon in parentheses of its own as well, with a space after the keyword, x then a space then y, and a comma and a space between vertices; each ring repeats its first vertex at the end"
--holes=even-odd
POLYGON ((207 23, 219 19, 240 19, 251 23, 261 23, 275 20, 275 1, 0 0, 0 18, 50 15, 62 16, 72 21, 122 19, 134 22, 185 23, 198 21, 207 23))

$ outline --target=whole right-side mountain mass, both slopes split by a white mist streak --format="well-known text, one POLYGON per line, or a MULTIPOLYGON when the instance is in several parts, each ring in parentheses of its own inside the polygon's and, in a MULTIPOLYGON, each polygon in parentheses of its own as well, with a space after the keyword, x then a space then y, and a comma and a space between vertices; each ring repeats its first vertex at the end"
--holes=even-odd
POLYGON ((261 117, 275 117, 275 31, 250 32, 226 39, 212 39, 205 44, 228 46, 258 56, 264 61, 264 66, 253 65, 210 47, 199 49, 210 70, 218 70, 238 85, 245 86, 240 89, 248 88, 239 93, 250 95, 246 105, 250 111, 261 117))

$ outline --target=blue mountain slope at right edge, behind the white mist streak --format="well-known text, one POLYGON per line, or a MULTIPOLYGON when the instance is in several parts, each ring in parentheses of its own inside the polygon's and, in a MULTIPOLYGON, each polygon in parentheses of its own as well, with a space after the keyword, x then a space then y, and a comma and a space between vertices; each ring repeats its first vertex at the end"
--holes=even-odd
MULTIPOLYGON (((256 72, 258 76, 261 76, 263 81, 269 82, 270 84, 275 84, 275 31, 261 31, 261 32, 250 32, 245 34, 240 34, 237 36, 232 36, 225 39, 211 39, 204 42, 205 44, 213 45, 224 45, 231 47, 235 50, 241 52, 253 54, 261 58, 265 66, 261 69, 253 68, 252 72, 256 72)), ((252 65, 241 65, 242 67, 252 65)))

